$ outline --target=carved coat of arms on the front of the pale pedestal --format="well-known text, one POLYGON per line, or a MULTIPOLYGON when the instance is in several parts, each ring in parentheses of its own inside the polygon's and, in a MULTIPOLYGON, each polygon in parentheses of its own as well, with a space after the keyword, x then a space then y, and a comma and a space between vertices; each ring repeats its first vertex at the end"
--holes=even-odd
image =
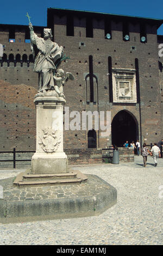
POLYGON ((45 130, 42 130, 44 135, 42 138, 39 137, 39 145, 43 149, 43 151, 47 153, 53 153, 57 151, 60 143, 61 137, 57 138, 55 130, 52 127, 49 127, 45 130))

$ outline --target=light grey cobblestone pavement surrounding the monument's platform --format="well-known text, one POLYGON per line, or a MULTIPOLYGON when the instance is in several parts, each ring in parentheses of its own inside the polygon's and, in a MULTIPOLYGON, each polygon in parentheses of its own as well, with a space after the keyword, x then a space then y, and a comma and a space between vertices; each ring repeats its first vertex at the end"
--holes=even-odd
MULTIPOLYGON (((0 245, 162 245, 163 159, 157 167, 147 162, 135 156, 135 163, 73 167, 114 186, 117 204, 99 216, 0 223, 0 245)), ((0 170, 0 179, 18 172, 0 170)))

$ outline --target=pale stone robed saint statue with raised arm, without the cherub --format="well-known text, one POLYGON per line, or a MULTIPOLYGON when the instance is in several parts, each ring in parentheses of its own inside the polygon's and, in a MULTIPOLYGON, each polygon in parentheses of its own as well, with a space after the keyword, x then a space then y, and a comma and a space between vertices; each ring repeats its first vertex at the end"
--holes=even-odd
POLYGON ((54 90, 53 74, 56 70, 55 63, 63 56, 63 47, 52 41, 52 31, 43 29, 43 38, 39 38, 34 31, 32 23, 29 23, 31 48, 34 52, 36 45, 39 53, 35 58, 34 72, 39 73, 39 92, 54 90))

